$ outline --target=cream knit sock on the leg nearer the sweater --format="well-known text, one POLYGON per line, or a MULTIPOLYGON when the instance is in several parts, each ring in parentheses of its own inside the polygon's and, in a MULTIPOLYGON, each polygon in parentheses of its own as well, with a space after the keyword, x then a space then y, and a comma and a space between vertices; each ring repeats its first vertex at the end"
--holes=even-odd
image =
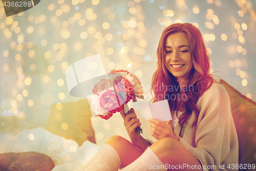
POLYGON ((152 171, 152 170, 167 170, 164 164, 159 160, 157 155, 148 146, 146 151, 133 163, 127 165, 122 171, 152 171))

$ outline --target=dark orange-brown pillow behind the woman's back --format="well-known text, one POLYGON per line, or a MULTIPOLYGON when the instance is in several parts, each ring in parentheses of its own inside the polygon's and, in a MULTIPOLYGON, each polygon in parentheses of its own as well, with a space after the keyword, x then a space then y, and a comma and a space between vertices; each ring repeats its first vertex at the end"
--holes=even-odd
POLYGON ((246 96, 224 80, 220 80, 220 83, 230 97, 231 113, 239 140, 239 164, 256 164, 256 103, 246 99, 246 96))

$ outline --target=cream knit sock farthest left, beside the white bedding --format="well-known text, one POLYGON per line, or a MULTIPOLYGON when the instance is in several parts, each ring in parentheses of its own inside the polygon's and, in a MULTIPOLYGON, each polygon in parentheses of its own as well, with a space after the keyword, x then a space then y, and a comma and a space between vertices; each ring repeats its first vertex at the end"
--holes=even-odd
POLYGON ((104 144, 80 170, 115 171, 121 165, 120 157, 113 146, 104 144))

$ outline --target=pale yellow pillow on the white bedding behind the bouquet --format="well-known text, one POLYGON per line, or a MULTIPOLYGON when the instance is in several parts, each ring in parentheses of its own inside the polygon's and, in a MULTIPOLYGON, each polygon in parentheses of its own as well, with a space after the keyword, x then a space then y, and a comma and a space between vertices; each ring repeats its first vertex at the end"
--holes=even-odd
POLYGON ((86 140, 96 143, 91 116, 87 99, 52 104, 45 129, 66 139, 72 139, 79 146, 86 140))

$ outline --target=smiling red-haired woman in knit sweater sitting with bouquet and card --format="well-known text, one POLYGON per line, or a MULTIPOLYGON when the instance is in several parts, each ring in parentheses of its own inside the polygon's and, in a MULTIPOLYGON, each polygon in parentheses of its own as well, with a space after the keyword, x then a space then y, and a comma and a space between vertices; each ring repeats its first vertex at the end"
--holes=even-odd
POLYGON ((238 138, 225 88, 210 75, 200 31, 189 23, 167 27, 157 49, 153 101, 167 99, 173 120, 149 119, 155 143, 135 132, 131 109, 121 115, 131 141, 109 138, 86 170, 238 170, 238 138), (229 168, 228 168, 229 166, 229 168))

